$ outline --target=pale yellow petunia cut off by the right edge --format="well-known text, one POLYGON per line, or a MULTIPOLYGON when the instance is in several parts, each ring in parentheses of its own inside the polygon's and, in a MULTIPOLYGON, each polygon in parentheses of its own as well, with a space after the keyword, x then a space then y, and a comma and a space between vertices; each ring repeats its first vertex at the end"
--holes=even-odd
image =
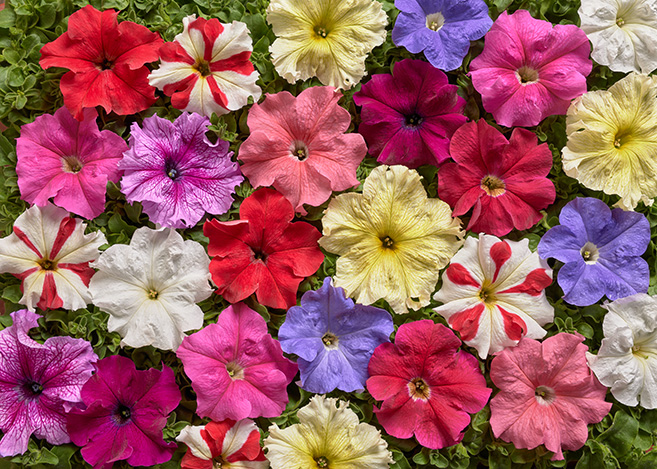
POLYGON ((657 77, 631 73, 568 109, 563 169, 633 209, 657 196, 657 77))

